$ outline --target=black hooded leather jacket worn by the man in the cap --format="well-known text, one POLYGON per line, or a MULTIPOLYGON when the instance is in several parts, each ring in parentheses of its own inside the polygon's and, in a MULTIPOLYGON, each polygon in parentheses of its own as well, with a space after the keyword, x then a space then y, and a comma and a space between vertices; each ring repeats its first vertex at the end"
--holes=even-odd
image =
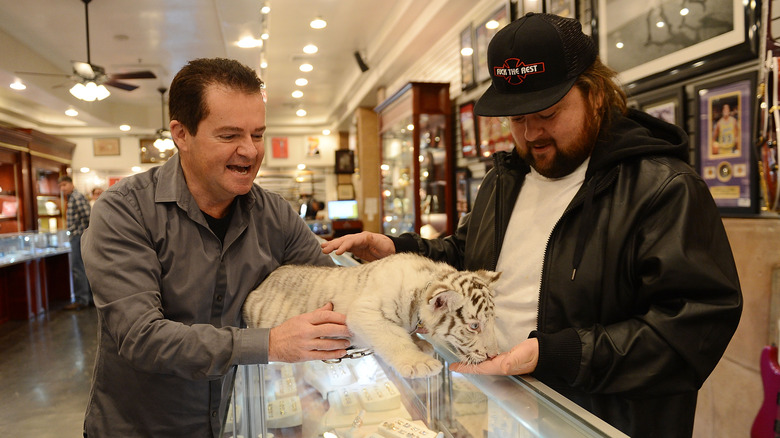
MULTIPOLYGON (((533 376, 632 437, 692 434, 697 391, 742 311, 720 215, 687 156, 680 128, 617 116, 544 257, 533 376)), ((397 250, 495 269, 529 169, 514 151, 494 162, 454 235, 405 234, 397 250)))

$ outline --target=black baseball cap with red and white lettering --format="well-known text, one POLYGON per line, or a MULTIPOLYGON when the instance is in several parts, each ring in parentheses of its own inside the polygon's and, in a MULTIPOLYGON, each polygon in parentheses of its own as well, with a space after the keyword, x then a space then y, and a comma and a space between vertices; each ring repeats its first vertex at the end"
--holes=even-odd
POLYGON ((479 98, 480 116, 542 111, 571 90, 596 60, 596 44, 571 18, 528 13, 498 31, 488 45, 492 84, 479 98))

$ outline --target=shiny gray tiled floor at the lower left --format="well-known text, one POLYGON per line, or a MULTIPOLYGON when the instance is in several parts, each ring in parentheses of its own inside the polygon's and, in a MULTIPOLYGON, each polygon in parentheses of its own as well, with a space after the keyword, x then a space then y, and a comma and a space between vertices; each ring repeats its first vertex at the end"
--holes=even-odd
POLYGON ((0 437, 81 437, 97 345, 94 308, 0 325, 0 437))

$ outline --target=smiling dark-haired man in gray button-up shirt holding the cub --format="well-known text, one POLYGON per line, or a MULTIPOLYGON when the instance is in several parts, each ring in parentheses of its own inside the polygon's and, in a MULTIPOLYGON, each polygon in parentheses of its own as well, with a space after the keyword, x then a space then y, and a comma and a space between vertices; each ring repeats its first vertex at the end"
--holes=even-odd
POLYGON ((95 204, 83 251, 99 345, 84 436, 218 437, 237 365, 346 354, 331 304, 272 329, 242 321, 246 296, 280 265, 334 265, 290 204, 254 184, 263 93, 237 61, 190 61, 170 86, 178 153, 95 204))

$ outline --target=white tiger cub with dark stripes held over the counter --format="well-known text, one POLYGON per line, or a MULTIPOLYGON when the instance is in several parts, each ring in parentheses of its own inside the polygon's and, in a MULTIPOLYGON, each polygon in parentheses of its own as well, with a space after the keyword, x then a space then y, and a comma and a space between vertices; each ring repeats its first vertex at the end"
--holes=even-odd
POLYGON ((427 377, 442 364, 420 348, 431 350, 413 334, 418 327, 452 345, 463 362, 498 354, 491 285, 499 275, 411 253, 353 267, 284 265, 249 294, 244 320, 275 327, 332 302, 347 317, 353 347, 373 349, 403 377, 427 377))

